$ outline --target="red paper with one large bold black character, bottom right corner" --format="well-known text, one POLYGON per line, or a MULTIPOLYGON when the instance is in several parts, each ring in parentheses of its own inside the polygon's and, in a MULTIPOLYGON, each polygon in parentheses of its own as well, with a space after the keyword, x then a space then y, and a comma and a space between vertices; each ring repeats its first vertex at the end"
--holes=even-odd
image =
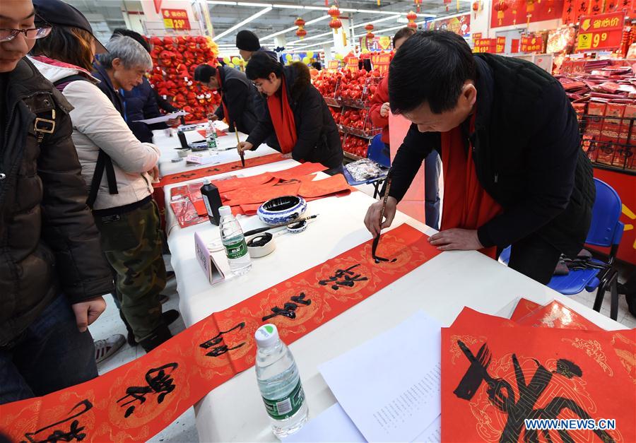
POLYGON ((632 386, 607 331, 519 326, 468 308, 442 329, 444 442, 633 442, 632 386), (527 430, 524 419, 613 419, 616 429, 527 430))

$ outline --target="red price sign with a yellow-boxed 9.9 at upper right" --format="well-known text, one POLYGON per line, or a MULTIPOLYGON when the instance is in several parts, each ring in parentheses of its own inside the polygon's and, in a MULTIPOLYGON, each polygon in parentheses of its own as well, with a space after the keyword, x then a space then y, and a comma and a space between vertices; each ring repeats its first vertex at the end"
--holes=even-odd
POLYGON ((597 16, 583 16, 579 21, 577 51, 618 49, 623 38, 625 13, 613 12, 597 16))

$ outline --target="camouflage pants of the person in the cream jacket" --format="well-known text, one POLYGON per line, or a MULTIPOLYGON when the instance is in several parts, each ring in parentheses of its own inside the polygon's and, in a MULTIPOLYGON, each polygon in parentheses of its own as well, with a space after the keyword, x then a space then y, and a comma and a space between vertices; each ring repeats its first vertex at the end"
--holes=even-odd
POLYGON ((165 264, 157 204, 118 214, 95 215, 102 251, 117 277, 117 298, 136 341, 161 323, 159 293, 165 288, 165 264))

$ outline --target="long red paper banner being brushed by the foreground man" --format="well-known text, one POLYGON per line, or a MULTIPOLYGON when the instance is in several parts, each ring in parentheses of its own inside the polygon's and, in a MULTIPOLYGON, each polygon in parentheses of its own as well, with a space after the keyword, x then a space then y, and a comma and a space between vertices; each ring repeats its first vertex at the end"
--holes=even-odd
POLYGON ((382 235, 378 254, 395 261, 376 264, 371 243, 211 314, 97 379, 0 406, 0 430, 11 440, 27 442, 153 437, 209 391, 254 364, 254 332, 262 324, 276 324, 283 341, 292 343, 440 254, 409 225, 382 235))

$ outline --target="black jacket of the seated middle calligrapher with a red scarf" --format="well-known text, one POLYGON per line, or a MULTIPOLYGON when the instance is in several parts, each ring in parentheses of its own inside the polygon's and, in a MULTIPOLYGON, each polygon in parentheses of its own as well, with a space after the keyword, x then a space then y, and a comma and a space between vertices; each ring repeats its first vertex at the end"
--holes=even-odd
MULTIPOLYGON (((285 66, 283 80, 298 136, 292 158, 322 163, 329 168, 342 165, 343 152, 336 122, 324 98, 312 85, 309 68, 300 62, 285 66)), ((274 128, 269 110, 265 107, 263 117, 249 134, 247 141, 257 148, 271 134, 274 134, 274 128)))

